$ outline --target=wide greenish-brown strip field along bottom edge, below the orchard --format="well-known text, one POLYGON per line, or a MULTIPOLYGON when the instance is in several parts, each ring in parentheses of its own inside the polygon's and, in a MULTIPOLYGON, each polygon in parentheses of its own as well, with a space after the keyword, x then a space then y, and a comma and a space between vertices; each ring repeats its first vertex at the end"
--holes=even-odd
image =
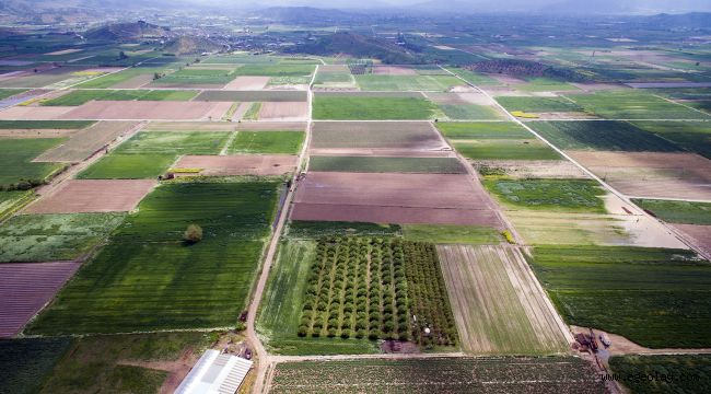
POLYGON ((428 358, 304 361, 277 364, 270 393, 606 393, 576 357, 428 358), (526 381, 525 383, 522 381, 526 381))

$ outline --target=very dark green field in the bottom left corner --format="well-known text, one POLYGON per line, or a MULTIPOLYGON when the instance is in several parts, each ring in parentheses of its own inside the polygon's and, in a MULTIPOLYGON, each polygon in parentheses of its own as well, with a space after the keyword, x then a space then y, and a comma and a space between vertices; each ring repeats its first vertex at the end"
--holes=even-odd
POLYGON ((37 393, 72 340, 0 340, 0 393, 37 393))

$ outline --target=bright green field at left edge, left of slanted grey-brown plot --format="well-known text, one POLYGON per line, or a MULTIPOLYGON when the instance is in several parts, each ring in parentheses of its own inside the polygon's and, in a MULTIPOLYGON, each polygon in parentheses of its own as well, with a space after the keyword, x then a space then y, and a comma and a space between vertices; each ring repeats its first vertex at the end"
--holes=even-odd
POLYGON ((0 186, 40 183, 63 169, 63 164, 33 163, 46 150, 65 138, 0 138, 0 186))

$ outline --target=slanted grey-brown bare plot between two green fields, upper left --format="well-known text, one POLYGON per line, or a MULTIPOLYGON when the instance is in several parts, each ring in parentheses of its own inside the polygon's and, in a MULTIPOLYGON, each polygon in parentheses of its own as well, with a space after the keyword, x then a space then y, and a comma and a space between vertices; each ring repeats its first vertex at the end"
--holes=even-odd
POLYGON ((78 131, 69 141, 44 152, 34 161, 81 162, 118 137, 127 136, 138 125, 136 121, 98 121, 78 131))

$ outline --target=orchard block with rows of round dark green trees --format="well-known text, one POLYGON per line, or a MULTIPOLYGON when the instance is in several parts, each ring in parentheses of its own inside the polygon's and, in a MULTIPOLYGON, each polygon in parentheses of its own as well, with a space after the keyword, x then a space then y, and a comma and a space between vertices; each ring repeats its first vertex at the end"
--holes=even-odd
POLYGON ((454 345, 456 329, 434 246, 399 239, 322 239, 299 335, 454 345))

